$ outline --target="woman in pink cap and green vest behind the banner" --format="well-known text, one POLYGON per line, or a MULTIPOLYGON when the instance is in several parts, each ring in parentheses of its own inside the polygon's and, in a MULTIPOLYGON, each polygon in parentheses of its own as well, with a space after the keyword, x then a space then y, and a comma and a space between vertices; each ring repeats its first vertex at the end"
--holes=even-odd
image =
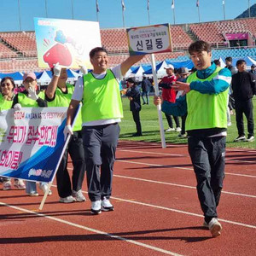
MULTIPOLYGON (((44 100, 44 91, 38 91, 37 77, 35 73, 25 73, 23 75, 23 84, 25 90, 15 95, 12 108, 20 110, 21 108, 44 108, 47 102, 44 100)), ((40 183, 39 189, 45 193, 47 183, 40 183)), ((37 183, 26 181, 26 194, 38 196, 37 183)), ((51 191, 49 190, 49 195, 51 191)))

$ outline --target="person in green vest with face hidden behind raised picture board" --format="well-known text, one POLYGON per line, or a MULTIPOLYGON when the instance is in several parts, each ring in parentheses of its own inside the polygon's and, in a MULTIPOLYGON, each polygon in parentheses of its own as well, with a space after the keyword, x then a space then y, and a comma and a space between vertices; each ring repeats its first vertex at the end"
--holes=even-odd
MULTIPOLYGON (((84 67, 81 67, 80 71, 81 73, 87 72, 84 67)), ((68 107, 71 102, 74 86, 67 83, 67 69, 61 68, 56 64, 52 69, 52 73, 53 78, 45 91, 48 107, 68 107)), ((56 173, 60 202, 72 203, 73 201, 85 201, 85 197, 82 193, 84 172, 85 160, 82 139, 82 115, 80 111, 76 123, 73 126, 73 135, 70 137, 56 173), (67 171, 68 154, 70 154, 73 163, 72 181, 67 171)))

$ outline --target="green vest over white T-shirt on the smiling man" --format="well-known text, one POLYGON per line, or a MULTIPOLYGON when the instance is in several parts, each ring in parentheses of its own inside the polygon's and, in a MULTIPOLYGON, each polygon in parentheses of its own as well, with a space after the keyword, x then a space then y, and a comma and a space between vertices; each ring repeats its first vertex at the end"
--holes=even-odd
POLYGON ((122 117, 119 83, 113 72, 108 69, 103 79, 96 79, 92 73, 84 75, 83 122, 122 117))

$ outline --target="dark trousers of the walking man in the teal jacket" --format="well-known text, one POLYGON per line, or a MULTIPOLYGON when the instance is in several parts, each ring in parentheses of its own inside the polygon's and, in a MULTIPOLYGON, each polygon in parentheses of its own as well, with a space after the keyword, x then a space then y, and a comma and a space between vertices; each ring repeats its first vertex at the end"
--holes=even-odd
POLYGON ((189 137, 189 155, 197 180, 197 195, 207 223, 218 218, 224 180, 226 137, 189 137))

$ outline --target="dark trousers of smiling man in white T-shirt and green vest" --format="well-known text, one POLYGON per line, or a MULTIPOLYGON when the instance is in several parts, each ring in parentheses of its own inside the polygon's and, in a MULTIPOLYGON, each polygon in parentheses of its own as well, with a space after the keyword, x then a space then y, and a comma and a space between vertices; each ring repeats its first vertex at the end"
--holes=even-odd
POLYGON ((83 127, 86 177, 90 201, 109 198, 112 193, 113 163, 119 140, 118 123, 83 127))

